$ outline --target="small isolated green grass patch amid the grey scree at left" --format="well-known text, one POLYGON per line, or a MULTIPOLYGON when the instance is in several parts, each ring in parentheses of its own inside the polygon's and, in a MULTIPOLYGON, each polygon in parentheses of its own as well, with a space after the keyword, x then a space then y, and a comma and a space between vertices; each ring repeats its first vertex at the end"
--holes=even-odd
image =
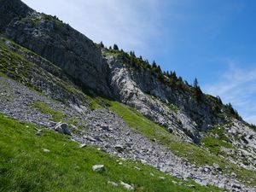
POLYGON ((31 107, 38 108, 41 113, 49 114, 51 116, 51 120, 55 122, 59 122, 65 117, 61 111, 49 108, 49 105, 45 102, 32 102, 31 107))

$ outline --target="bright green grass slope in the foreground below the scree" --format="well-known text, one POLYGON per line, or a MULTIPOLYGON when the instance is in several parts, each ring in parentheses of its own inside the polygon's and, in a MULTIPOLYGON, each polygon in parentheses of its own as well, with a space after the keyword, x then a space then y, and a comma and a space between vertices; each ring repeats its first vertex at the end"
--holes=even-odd
POLYGON ((184 183, 195 184, 195 189, 174 184, 172 181, 180 180, 151 166, 130 161, 119 165, 117 158, 96 148, 79 148, 78 143, 54 131, 43 129, 38 137, 34 128, 0 114, 0 191, 127 191, 120 185, 113 188, 108 181, 132 183, 134 191, 218 191, 193 182, 184 183), (106 170, 93 172, 91 167, 96 164, 105 165, 106 170))

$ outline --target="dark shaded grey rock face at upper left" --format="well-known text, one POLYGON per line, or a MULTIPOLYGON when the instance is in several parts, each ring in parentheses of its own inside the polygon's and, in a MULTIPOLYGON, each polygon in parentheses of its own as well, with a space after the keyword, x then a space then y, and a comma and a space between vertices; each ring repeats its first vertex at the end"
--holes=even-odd
POLYGON ((102 60, 101 50, 89 38, 56 17, 39 14, 18 0, 2 2, 0 31, 6 37, 52 61, 82 87, 110 95, 106 80, 108 66, 102 60))

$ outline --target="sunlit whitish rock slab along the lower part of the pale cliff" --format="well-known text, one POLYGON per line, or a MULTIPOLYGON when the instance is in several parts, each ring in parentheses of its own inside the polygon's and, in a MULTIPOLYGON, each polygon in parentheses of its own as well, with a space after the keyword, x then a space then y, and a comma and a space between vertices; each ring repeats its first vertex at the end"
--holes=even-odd
POLYGON ((158 98, 162 96, 168 102, 163 89, 159 88, 157 91, 160 96, 149 96, 139 86, 139 84, 148 83, 146 87, 154 90, 154 85, 158 84, 156 79, 153 79, 154 82, 148 81, 147 76, 149 77, 149 74, 147 72, 143 76, 146 79, 134 79, 134 76, 132 76, 134 74, 113 57, 108 58, 108 65, 110 68, 109 82, 113 96, 120 102, 136 108, 148 119, 165 126, 169 131, 183 137, 185 140, 196 141, 199 139, 196 123, 189 119, 182 110, 172 110, 158 98))

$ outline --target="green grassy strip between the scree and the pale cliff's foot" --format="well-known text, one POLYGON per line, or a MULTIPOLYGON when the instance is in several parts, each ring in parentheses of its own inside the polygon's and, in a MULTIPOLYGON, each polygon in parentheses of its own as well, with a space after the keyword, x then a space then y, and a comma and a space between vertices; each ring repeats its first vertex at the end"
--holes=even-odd
POLYGON ((133 108, 126 107, 119 102, 109 102, 109 105, 109 109, 118 113, 128 125, 134 127, 138 131, 141 131, 150 139, 157 139, 160 143, 171 148, 172 152, 177 154, 177 156, 185 157, 190 162, 195 163, 198 166, 213 165, 213 163, 217 163, 224 172, 236 172, 237 177, 243 181, 243 183, 248 184, 249 182, 252 186, 256 186, 256 172, 236 166, 235 164, 230 163, 230 161, 216 155, 220 145, 230 148, 228 143, 223 143, 218 140, 218 143, 215 143, 218 146, 215 146, 212 142, 216 142, 216 140, 212 141, 212 138, 203 140, 205 146, 213 152, 210 153, 206 148, 199 145, 180 141, 163 127, 155 125, 154 122, 147 119, 133 108))

